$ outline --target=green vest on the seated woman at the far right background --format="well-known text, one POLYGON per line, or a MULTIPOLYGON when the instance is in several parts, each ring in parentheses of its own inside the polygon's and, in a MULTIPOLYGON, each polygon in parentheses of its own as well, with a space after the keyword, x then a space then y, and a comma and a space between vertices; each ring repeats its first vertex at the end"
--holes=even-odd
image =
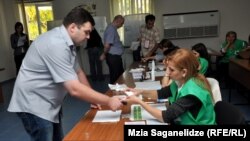
MULTIPOLYGON (((227 42, 222 43, 221 48, 225 48, 227 42)), ((220 62, 228 63, 230 58, 235 58, 238 53, 244 49, 246 46, 246 42, 243 40, 236 39, 233 43, 234 48, 228 48, 226 53, 224 54, 223 58, 220 62)))

